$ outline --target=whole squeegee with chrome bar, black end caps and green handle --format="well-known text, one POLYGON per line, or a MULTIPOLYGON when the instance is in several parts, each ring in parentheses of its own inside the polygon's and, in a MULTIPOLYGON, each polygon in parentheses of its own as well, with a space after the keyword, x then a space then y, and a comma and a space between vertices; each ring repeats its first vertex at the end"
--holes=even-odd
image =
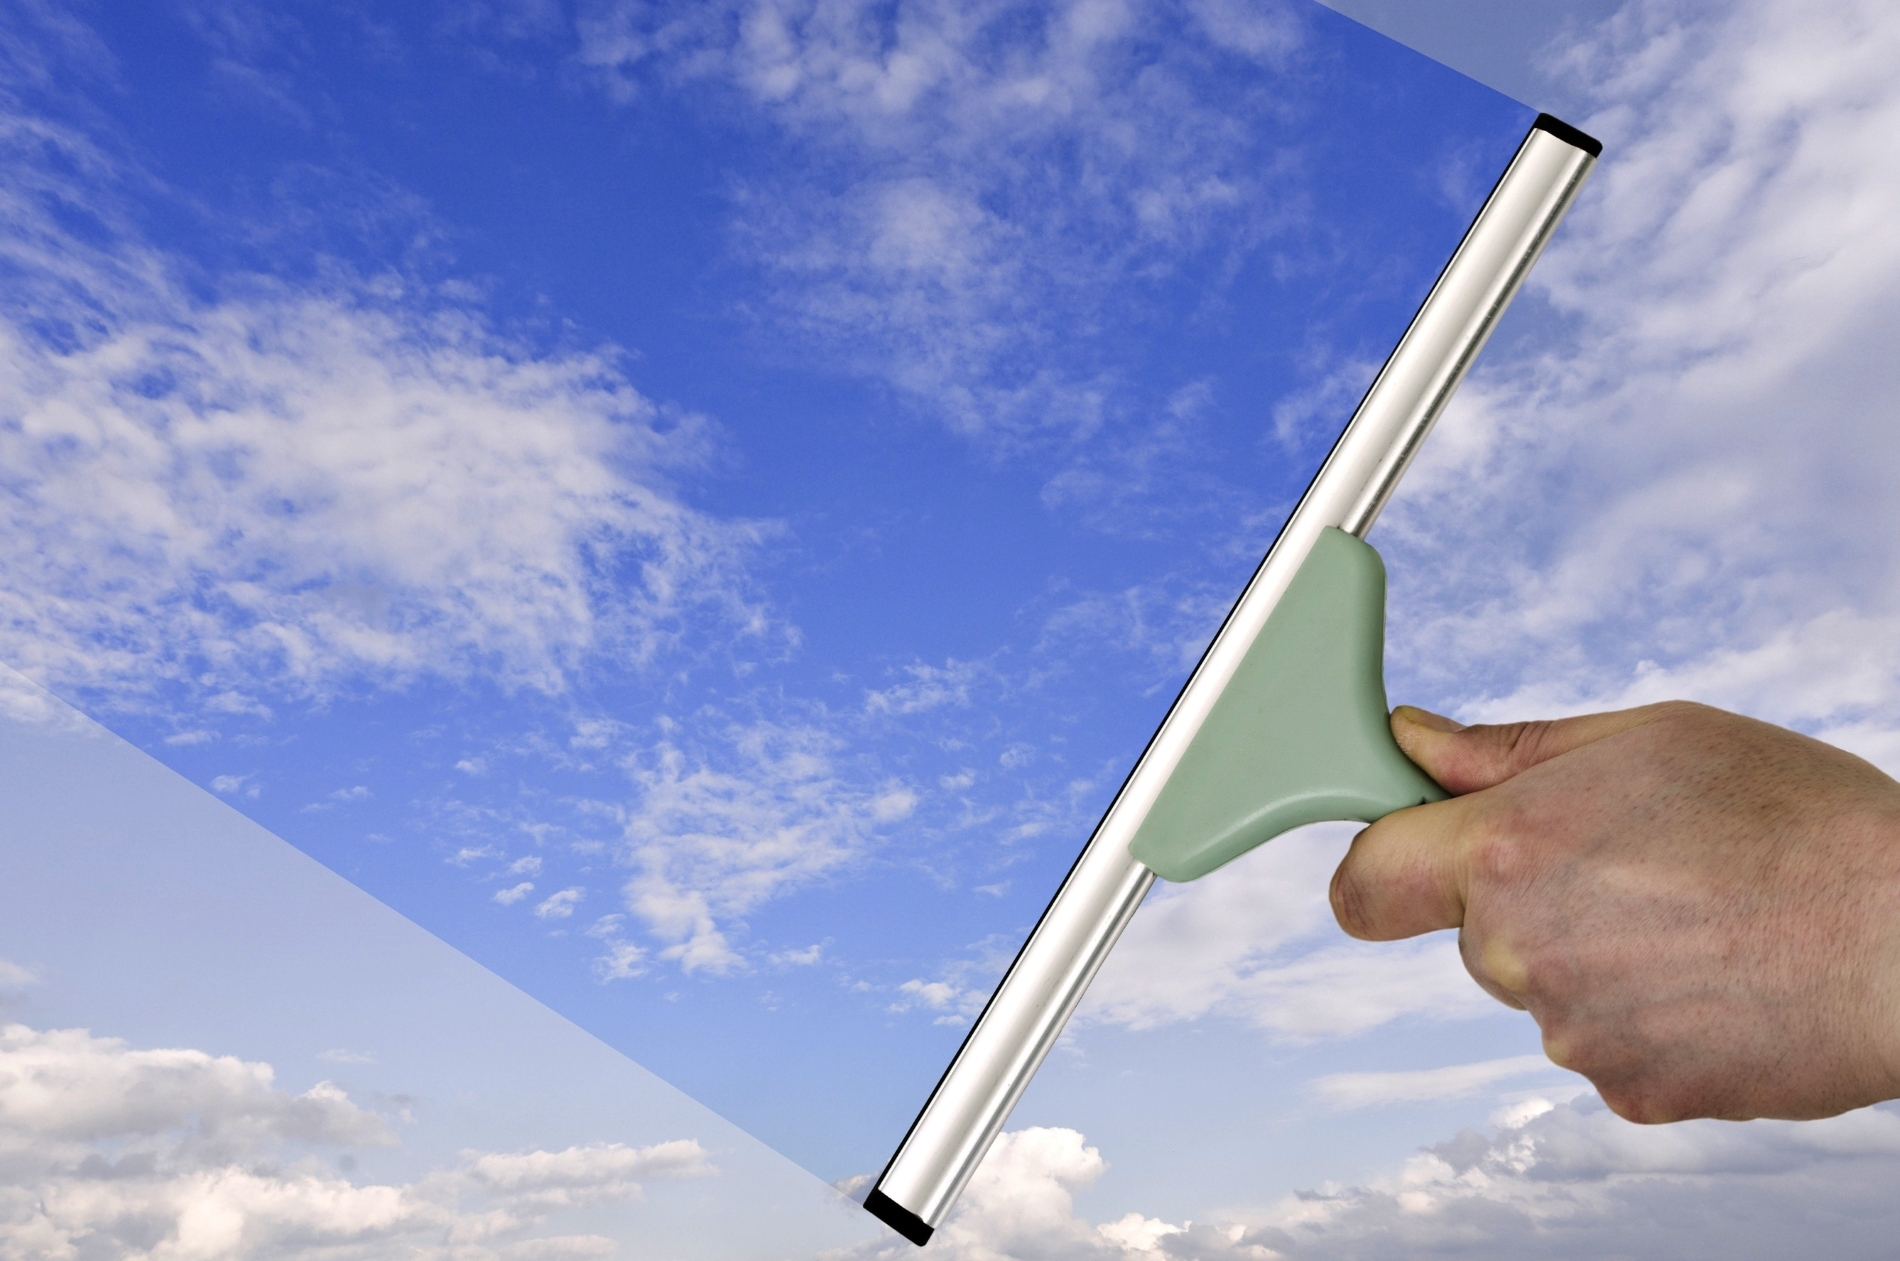
POLYGON ((1155 877, 1311 822, 1442 800, 1385 708, 1385 564, 1364 541, 1602 144, 1539 114, 864 1208, 929 1242, 1155 877))

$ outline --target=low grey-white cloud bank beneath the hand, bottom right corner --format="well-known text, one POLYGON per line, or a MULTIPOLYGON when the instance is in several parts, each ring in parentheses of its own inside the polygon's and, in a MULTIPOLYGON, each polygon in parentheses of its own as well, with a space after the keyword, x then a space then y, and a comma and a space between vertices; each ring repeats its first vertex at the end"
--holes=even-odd
POLYGON ((1243 1214, 1229 1234, 1286 1259, 1875 1257, 1896 1174, 1900 1117, 1885 1109, 1634 1126, 1594 1096, 1545 1100, 1364 1185, 1243 1214))

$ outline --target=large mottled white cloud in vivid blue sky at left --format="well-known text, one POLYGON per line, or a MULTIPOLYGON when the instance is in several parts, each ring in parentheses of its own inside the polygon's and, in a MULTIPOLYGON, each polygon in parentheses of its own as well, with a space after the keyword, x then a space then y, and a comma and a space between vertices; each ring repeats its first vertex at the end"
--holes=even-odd
POLYGON ((559 691, 602 651, 764 625, 762 528, 667 490, 707 425, 614 351, 536 353, 391 275, 200 298, 86 139, 8 110, 0 169, 0 655, 25 674, 262 716, 477 670, 559 691))

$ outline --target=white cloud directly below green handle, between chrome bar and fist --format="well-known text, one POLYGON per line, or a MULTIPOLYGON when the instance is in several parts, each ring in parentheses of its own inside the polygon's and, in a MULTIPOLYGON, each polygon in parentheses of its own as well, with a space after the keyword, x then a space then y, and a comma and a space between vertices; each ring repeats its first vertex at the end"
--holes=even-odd
POLYGON ((1303 1043, 1495 1010, 1450 934, 1368 944, 1338 931, 1326 889, 1353 830, 1290 832, 1216 875, 1161 887, 1077 1018, 1148 1029, 1218 1016, 1303 1043))

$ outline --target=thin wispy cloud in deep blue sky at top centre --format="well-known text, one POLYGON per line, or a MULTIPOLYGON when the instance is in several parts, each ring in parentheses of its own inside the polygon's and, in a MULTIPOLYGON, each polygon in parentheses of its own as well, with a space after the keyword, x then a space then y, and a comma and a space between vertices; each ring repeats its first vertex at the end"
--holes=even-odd
MULTIPOLYGON (((1134 294, 1216 230, 1248 249, 1300 220, 1275 76, 1303 42, 1292 6, 1220 0, 608 4, 580 23, 610 91, 705 85, 796 146, 796 179, 733 201, 773 334, 992 448, 1104 425, 1155 446, 1167 403, 1119 397, 1106 310, 1140 319, 1134 294)), ((1062 496, 1104 486, 1077 473, 1062 496)))

